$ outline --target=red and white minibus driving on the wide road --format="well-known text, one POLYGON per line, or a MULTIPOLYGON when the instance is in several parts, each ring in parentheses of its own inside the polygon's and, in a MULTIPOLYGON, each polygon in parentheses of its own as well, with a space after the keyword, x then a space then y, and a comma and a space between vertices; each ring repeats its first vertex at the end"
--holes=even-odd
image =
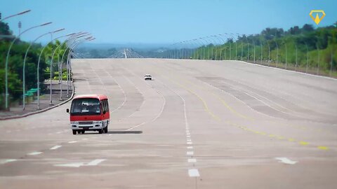
POLYGON ((109 103, 103 94, 86 94, 74 97, 70 113, 72 134, 84 134, 86 131, 107 133, 110 123, 109 103))

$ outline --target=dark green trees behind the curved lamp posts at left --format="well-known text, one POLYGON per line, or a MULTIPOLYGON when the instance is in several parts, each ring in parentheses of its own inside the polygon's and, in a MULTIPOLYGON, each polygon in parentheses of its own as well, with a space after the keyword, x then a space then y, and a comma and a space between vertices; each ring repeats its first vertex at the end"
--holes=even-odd
MULTIPOLYGON (((4 109, 4 98, 5 98, 5 63, 8 48, 13 41, 13 32, 4 22, 0 22, 0 109, 4 109)), ((25 58, 25 52, 30 43, 26 41, 17 40, 11 48, 11 53, 8 59, 8 93, 10 94, 10 102, 20 102, 22 99, 22 71, 23 71, 23 61, 25 58)), ((58 79, 58 61, 62 57, 63 52, 65 52, 66 45, 61 44, 60 41, 54 41, 54 43, 48 43, 44 49, 43 54, 40 59, 39 66, 39 82, 41 87, 41 94, 46 90, 43 85, 44 80, 50 78, 50 67, 51 67, 51 56, 53 50, 58 45, 62 45, 55 52, 55 57, 53 57, 53 78, 58 79), (60 56, 59 56, 60 55, 60 56)), ((27 96, 37 95, 37 63, 39 61, 40 52, 44 48, 39 43, 35 43, 29 49, 25 65, 25 80, 26 89, 25 91, 34 91, 34 94, 26 94, 27 96)), ((65 61, 65 60, 64 60, 65 61)), ((65 68, 65 66, 63 66, 65 68)), ((65 73, 64 69, 63 73, 65 73)), ((65 78, 65 77, 63 77, 65 78)))

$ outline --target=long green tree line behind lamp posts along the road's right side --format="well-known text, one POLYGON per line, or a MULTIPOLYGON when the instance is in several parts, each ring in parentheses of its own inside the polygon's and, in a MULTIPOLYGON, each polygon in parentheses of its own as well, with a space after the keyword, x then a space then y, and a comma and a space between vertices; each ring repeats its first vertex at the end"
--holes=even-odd
POLYGON ((238 59, 336 77, 337 26, 314 29, 312 25, 304 25, 288 31, 266 28, 260 34, 229 36, 223 45, 204 45, 190 55, 179 58, 238 59))

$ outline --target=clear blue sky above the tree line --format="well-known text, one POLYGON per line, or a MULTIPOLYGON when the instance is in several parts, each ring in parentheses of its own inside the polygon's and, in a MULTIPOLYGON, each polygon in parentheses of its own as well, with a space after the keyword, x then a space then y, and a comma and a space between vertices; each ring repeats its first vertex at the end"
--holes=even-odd
MULTIPOLYGON (((336 0, 3 0, 2 18, 31 9, 6 20, 15 34, 44 22, 22 35, 25 41, 64 27, 62 34, 88 31, 91 43, 175 43, 221 33, 256 34, 266 27, 289 29, 315 25, 310 10, 322 9, 326 17, 319 26, 337 21, 336 0)), ((315 25, 316 26, 316 25, 315 25)), ((61 34, 61 33, 60 33, 61 34)), ((60 34, 55 34, 58 36, 60 34)), ((50 37, 41 38, 46 42, 50 37)))

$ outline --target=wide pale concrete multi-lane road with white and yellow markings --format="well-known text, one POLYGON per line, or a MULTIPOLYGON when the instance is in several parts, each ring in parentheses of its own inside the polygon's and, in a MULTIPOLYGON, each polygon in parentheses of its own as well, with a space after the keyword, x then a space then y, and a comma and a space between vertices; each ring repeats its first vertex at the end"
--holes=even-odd
POLYGON ((0 122, 0 188, 336 188, 337 80, 235 61, 73 59, 107 134, 0 122), (154 80, 144 80, 150 73, 154 80))

